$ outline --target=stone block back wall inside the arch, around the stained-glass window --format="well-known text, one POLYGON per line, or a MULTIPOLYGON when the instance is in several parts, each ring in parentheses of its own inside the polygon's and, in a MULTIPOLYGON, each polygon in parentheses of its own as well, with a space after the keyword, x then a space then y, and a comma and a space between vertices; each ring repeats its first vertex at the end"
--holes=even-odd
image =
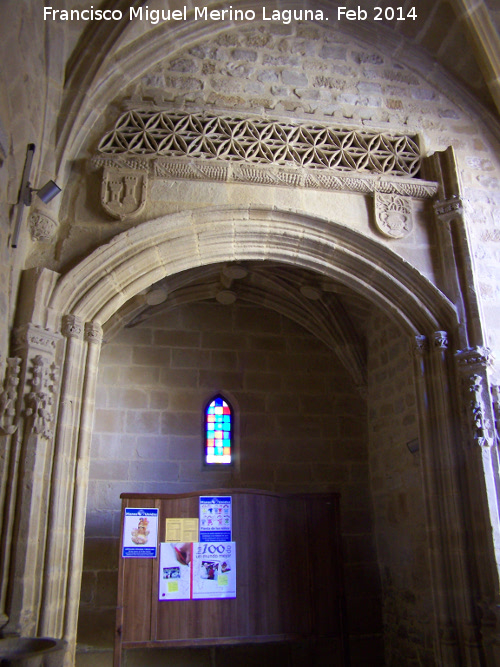
POLYGON ((366 404, 335 355, 298 325, 273 311, 209 302, 124 329, 103 348, 79 664, 99 648, 109 660, 120 493, 231 486, 341 492, 353 657, 366 660, 368 645, 380 664, 366 404), (219 391, 236 412, 236 464, 222 472, 201 466, 202 409, 219 391))

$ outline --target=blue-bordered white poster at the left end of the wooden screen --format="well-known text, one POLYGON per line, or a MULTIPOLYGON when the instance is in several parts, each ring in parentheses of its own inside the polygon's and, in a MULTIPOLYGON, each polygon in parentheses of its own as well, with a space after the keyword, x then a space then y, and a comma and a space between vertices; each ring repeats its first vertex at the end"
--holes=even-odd
POLYGON ((122 558, 156 558, 158 509, 125 508, 122 558))

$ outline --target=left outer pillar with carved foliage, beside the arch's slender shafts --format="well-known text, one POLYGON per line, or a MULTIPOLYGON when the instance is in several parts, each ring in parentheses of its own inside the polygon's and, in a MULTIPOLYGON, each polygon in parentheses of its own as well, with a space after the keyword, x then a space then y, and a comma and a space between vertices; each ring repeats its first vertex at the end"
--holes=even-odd
POLYGON ((10 443, 11 492, 5 499, 2 534, 2 575, 9 591, 8 596, 3 591, 9 617, 3 632, 35 636, 45 563, 61 336, 29 324, 17 330, 14 351, 22 362, 15 417, 19 427, 10 443))

